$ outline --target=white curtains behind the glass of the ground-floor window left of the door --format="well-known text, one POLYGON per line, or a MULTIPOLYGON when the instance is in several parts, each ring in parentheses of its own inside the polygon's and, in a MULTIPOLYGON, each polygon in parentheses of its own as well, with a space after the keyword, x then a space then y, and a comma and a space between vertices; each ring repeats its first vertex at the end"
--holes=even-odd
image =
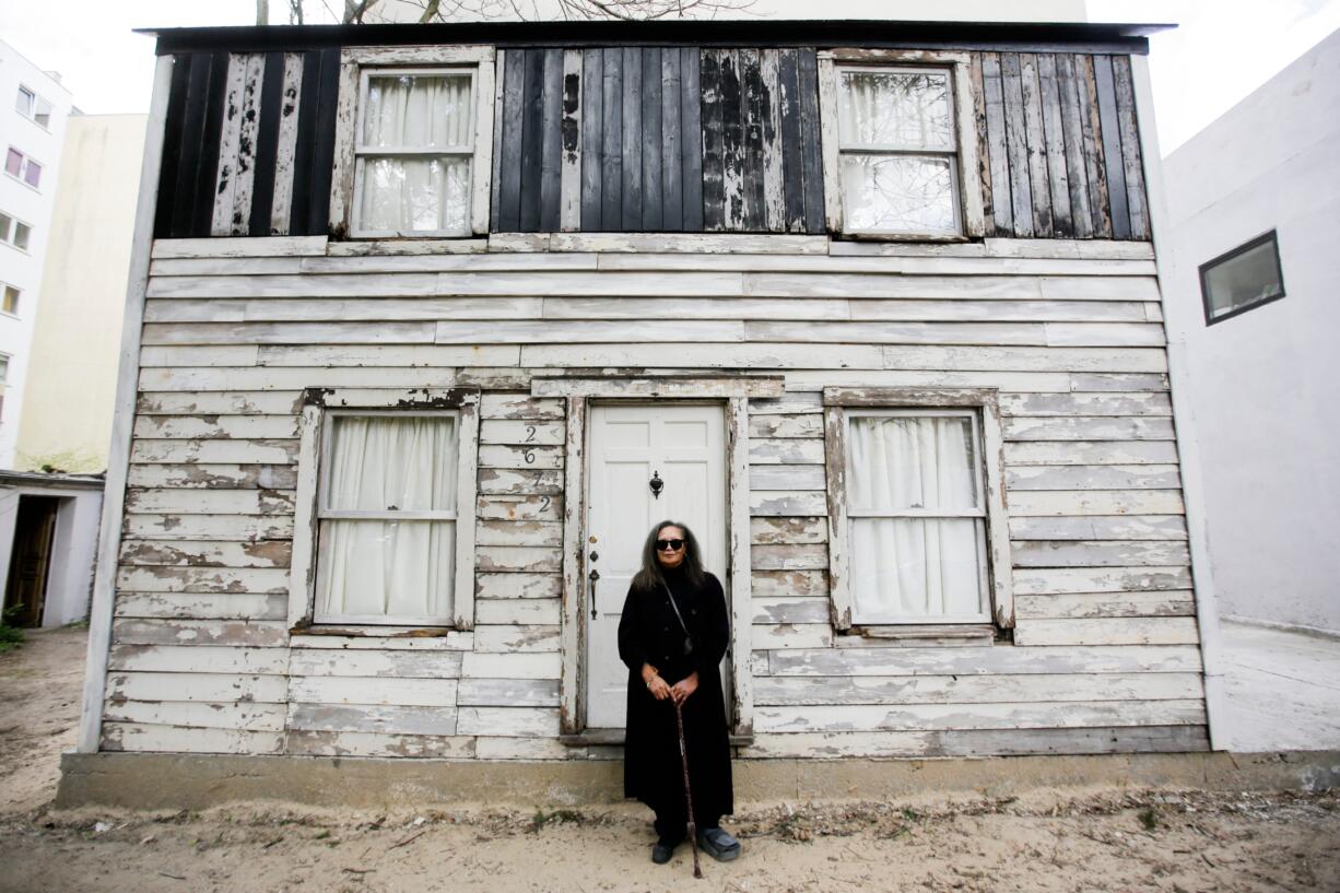
MULTIPOLYGON (((452 511, 453 417, 335 418, 324 510, 452 511)), ((320 524, 322 615, 448 618, 456 558, 452 520, 320 524)))

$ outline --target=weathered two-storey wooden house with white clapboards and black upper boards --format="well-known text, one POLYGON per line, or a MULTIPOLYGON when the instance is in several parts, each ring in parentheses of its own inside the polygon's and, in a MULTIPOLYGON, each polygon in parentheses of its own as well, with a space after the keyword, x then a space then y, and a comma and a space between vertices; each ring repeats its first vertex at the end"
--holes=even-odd
POLYGON ((1139 29, 185 29, 80 750, 618 759, 638 544, 741 760, 1210 747, 1139 29))

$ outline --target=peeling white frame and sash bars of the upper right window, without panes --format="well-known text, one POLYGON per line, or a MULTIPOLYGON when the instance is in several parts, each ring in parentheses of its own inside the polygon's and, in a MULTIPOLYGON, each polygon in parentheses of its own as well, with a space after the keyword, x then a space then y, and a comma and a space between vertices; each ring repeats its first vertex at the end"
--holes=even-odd
POLYGON ((981 173, 977 158, 977 119, 973 110, 972 59, 966 52, 942 52, 922 50, 859 50, 838 48, 819 52, 819 111, 820 138, 824 157, 824 212, 831 233, 851 239, 872 239, 886 241, 965 241, 985 235, 982 213, 981 173), (931 70, 949 74, 953 109, 953 130, 955 149, 950 152, 910 150, 906 147, 864 147, 844 146, 839 125, 842 114, 840 72, 855 68, 875 71, 931 70), (842 189, 842 156, 866 154, 914 154, 953 156, 954 213, 958 232, 913 232, 851 229, 846 225, 844 196, 842 189))

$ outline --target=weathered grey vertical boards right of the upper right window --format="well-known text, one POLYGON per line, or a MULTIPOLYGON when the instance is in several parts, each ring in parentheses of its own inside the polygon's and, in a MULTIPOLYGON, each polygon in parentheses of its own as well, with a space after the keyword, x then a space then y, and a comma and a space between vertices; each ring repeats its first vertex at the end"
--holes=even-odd
POLYGON ((973 59, 988 235, 1148 240, 1130 58, 973 59))

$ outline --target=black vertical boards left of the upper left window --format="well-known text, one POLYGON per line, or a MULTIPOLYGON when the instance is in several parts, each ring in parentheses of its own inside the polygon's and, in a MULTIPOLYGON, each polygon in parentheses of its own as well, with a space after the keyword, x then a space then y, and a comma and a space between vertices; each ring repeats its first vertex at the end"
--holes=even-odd
MULTIPOLYGON (((233 176, 251 177, 251 213, 234 220, 229 235, 324 235, 330 221, 331 172, 335 153, 335 111, 339 93, 339 48, 300 54, 297 97, 283 95, 284 54, 265 52, 260 88, 260 121, 255 143, 239 146, 224 160, 233 176), (287 221, 273 225, 275 168, 280 118, 297 115, 287 221)), ((158 174, 157 239, 210 235, 220 192, 220 137, 224 122, 240 109, 225 107, 229 54, 184 52, 174 56, 163 157, 158 174)))

